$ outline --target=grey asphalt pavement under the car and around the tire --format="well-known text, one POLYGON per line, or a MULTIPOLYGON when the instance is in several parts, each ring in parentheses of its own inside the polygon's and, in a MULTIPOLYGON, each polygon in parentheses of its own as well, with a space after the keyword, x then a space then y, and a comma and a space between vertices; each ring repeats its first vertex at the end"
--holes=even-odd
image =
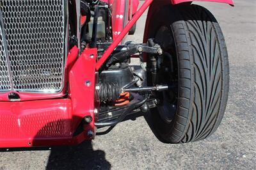
MULTIPOLYGON (((256 169, 256 1, 200 4, 219 20, 230 58, 229 100, 216 133, 163 144, 140 117, 77 147, 1 152, 0 169, 256 169)), ((141 42, 145 18, 129 40, 141 42)))

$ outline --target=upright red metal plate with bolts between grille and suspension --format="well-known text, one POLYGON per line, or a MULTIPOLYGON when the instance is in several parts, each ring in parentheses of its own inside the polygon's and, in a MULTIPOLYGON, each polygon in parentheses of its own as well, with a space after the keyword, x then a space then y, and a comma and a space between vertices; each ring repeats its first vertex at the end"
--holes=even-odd
MULTIPOLYGON (((95 64, 97 49, 86 49, 77 59, 69 73, 69 97, 73 105, 73 127, 77 128, 80 118, 92 116, 93 121, 85 130, 95 131, 95 64)), ((97 106, 96 106, 97 107, 97 106)))

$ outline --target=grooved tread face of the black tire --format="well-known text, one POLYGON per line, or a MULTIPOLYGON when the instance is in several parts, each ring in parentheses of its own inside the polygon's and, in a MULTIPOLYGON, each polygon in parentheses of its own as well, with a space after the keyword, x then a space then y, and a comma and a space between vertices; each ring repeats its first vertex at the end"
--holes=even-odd
POLYGON ((182 10, 183 20, 171 26, 180 77, 179 108, 168 135, 171 143, 198 141, 215 132, 229 88, 227 47, 218 22, 201 6, 185 8, 189 9, 182 10))

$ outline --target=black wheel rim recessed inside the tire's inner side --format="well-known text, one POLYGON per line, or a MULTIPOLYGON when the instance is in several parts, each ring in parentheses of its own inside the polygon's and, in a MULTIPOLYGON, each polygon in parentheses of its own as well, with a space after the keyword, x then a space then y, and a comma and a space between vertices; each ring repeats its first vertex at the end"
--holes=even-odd
POLYGON ((155 42, 164 51, 163 56, 157 58, 156 84, 168 84, 168 91, 156 93, 159 104, 157 110, 161 120, 172 123, 177 112, 179 94, 179 71, 177 65, 177 52, 170 26, 161 26, 156 32, 155 42))

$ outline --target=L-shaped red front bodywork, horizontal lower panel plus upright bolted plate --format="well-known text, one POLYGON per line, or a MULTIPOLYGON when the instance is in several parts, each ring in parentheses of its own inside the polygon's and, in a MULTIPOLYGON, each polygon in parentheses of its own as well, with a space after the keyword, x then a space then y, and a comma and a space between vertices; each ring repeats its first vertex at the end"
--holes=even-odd
MULTIPOLYGON (((73 50, 77 53, 77 48, 73 50)), ((72 66, 68 98, 0 102, 0 148, 72 145, 91 139, 87 132, 95 133, 93 111, 99 107, 95 102, 96 58, 97 49, 86 49, 72 66), (85 116, 92 116, 92 123, 74 136, 85 116)))

